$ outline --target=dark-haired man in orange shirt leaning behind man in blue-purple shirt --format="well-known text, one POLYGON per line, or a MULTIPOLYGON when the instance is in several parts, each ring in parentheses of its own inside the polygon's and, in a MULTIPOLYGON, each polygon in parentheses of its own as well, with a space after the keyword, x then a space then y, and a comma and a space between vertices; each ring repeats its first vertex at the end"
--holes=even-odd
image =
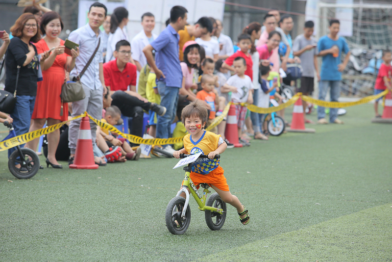
POLYGON ((212 23, 206 16, 197 20, 195 25, 185 26, 184 30, 178 31, 180 35, 180 41, 178 41, 178 45, 180 46, 180 61, 183 61, 184 58, 184 53, 182 52, 184 44, 208 32, 212 32, 212 23))

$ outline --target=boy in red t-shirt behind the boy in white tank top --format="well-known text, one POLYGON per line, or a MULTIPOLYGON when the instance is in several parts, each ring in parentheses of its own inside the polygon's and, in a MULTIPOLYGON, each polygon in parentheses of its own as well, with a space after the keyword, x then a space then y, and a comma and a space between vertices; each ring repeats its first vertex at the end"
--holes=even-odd
POLYGON ((248 34, 240 34, 238 36, 238 47, 240 50, 229 56, 224 63, 222 64, 222 68, 229 69, 230 71, 235 71, 233 67, 233 61, 236 57, 241 56, 245 59, 246 62, 246 70, 245 75, 248 76, 251 80, 253 79, 253 62, 252 57, 248 53, 249 48, 252 45, 252 41, 250 39, 250 35, 248 34))

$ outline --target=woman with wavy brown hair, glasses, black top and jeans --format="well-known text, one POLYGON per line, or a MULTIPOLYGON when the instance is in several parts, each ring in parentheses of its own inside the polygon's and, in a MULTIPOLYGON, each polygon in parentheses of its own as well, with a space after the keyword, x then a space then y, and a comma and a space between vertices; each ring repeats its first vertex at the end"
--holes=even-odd
MULTIPOLYGON (((44 52, 39 61, 38 52, 33 43, 38 42, 41 36, 37 20, 31 13, 22 14, 11 27, 11 33, 14 37, 6 53, 4 90, 14 94, 16 82, 18 82, 16 104, 10 116, 14 119, 16 135, 20 135, 28 132, 37 95, 39 63, 43 64, 48 53, 44 52), (19 77, 18 67, 20 67, 19 77)), ((15 148, 9 149, 8 157, 14 151, 15 148)))

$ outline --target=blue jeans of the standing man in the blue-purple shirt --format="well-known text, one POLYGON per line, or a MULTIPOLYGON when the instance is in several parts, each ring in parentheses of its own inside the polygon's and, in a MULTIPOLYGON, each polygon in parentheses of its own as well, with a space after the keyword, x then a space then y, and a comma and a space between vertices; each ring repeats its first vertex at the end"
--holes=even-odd
POLYGON ((163 116, 157 116, 156 137, 169 138, 171 125, 174 121, 177 104, 178 104, 178 87, 166 86, 163 81, 157 82, 158 92, 161 95, 161 105, 166 107, 166 113, 163 116))

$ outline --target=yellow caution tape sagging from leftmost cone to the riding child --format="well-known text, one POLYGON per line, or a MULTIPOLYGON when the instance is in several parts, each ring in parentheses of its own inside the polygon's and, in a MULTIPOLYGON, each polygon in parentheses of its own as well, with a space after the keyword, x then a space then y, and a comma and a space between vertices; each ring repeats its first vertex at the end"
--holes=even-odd
POLYGON ((133 134, 125 134, 122 131, 118 130, 117 128, 113 127, 112 125, 108 123, 101 122, 90 115, 91 120, 93 120, 99 127, 102 129, 109 130, 111 132, 117 133, 126 139, 128 139, 129 142, 134 143, 134 144, 146 144, 146 145, 168 145, 168 144, 174 144, 181 142, 184 136, 180 137, 173 137, 173 138, 151 138, 151 139, 144 139, 140 136, 136 136, 133 134))

